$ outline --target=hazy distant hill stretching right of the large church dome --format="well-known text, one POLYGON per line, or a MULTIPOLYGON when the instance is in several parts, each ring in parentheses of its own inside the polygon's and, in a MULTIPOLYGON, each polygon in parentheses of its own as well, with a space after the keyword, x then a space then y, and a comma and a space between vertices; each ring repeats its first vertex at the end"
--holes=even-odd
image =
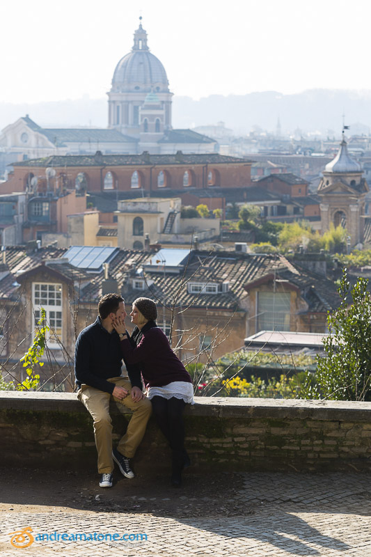
MULTIPOLYGON (((248 95, 211 95, 200 100, 174 97, 173 121, 177 127, 214 124, 219 120, 235 133, 247 133, 253 125, 276 131, 278 118, 282 132, 298 127, 306 132, 328 130, 338 135, 345 123, 361 123, 371 128, 371 91, 331 91, 312 89, 297 95, 275 91, 248 95)), ((350 130, 352 133, 352 130, 350 130)))

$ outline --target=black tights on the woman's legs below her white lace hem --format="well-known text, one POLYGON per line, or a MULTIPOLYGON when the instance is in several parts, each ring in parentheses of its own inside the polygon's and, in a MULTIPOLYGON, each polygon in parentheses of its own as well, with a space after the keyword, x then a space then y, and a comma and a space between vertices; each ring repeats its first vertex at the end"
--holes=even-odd
POLYGON ((154 396, 151 400, 152 411, 161 432, 168 440, 173 459, 182 460, 184 453, 183 410, 186 405, 182 398, 154 396))

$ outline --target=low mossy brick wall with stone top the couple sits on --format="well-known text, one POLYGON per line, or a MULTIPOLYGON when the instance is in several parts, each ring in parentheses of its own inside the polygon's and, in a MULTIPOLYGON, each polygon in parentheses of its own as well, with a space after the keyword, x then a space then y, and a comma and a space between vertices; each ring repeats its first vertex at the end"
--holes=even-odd
MULTIPOLYGON (((115 439, 125 418, 113 408, 115 439)), ((369 402, 198 398, 186 427, 194 471, 370 468, 369 402)), ((4 465, 95 470, 91 418, 74 393, 1 392, 0 431, 4 465)), ((167 454, 151 421, 136 470, 168 468, 167 454)))

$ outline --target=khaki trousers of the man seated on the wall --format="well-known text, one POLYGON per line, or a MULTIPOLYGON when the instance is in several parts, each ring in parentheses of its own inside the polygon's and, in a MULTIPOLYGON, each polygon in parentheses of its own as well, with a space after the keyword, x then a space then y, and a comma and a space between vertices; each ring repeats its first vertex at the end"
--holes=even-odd
POLYGON ((129 408, 133 411, 127 431, 121 437, 117 449, 127 458, 134 457, 136 448, 141 443, 145 433, 145 427, 150 418, 152 405, 148 398, 139 402, 133 402, 131 397, 132 384, 123 377, 111 377, 107 379, 110 383, 123 387, 129 394, 123 400, 112 397, 109 393, 94 389, 88 385, 81 385, 77 398, 90 412, 94 420, 95 445, 98 453, 98 473, 112 473, 112 420, 109 415, 109 401, 111 398, 117 403, 118 409, 125 413, 129 408))

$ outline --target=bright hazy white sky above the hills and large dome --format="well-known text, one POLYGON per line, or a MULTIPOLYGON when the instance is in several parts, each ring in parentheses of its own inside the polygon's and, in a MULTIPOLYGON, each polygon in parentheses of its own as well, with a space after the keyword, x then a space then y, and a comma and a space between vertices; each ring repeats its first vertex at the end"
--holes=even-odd
POLYGON ((104 97, 139 15, 176 95, 371 89, 368 0, 3 0, 0 102, 104 97))

